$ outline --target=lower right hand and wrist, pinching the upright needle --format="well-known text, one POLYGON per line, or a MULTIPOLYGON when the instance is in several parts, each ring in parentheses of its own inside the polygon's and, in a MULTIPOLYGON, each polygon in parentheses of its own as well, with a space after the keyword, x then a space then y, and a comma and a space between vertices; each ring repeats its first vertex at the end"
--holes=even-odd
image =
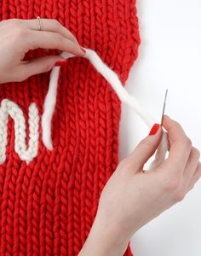
POLYGON ((85 242, 83 255, 123 255, 130 237, 152 218, 181 201, 201 177, 199 152, 192 147, 181 125, 164 116, 169 134, 169 157, 152 171, 143 166, 162 136, 146 137, 124 159, 100 195, 95 222, 85 242))

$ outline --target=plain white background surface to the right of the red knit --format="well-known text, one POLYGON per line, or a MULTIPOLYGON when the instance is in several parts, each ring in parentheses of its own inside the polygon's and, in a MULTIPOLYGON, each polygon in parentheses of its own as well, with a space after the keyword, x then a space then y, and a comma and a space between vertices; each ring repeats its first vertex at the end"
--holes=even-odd
MULTIPOLYGON (((138 0, 137 13, 141 46, 126 89, 159 121, 168 88, 166 113, 201 150, 201 1, 138 0)), ((120 159, 149 132, 132 110, 122 108, 120 159)), ((138 230, 131 243, 135 256, 200 256, 201 182, 138 230)))

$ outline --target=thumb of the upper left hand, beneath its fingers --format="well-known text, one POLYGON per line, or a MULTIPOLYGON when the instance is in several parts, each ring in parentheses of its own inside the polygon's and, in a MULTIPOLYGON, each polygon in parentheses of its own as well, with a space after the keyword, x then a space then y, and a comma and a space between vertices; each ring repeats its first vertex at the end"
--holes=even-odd
POLYGON ((22 61, 20 72, 18 72, 20 79, 27 79, 38 73, 49 72, 49 70, 55 67, 57 61, 65 61, 65 59, 59 55, 49 55, 32 61, 22 61))

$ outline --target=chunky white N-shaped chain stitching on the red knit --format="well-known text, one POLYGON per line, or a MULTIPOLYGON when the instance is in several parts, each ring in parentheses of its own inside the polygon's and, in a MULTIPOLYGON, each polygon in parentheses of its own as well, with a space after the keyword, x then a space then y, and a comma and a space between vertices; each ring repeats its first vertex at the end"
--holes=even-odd
POLYGON ((14 119, 14 151, 21 160, 26 160, 28 164, 35 156, 38 150, 39 137, 39 114, 37 106, 32 103, 29 106, 29 143, 26 147, 26 121, 22 110, 17 104, 4 99, 0 108, 0 164, 6 160, 6 146, 8 143, 7 130, 9 115, 14 119))

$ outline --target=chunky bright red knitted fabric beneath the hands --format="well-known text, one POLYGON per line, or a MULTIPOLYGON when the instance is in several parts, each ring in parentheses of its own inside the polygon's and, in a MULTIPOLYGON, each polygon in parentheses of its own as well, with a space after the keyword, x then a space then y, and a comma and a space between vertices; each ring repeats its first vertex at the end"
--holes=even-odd
MULTIPOLYGON (((0 2, 1 20, 37 15, 59 20, 125 83, 140 44, 135 0, 0 2)), ((44 54, 38 49, 26 58, 44 54)), ((0 102, 7 98, 18 104, 27 134, 28 107, 35 102, 41 117, 48 87, 49 73, 0 84, 0 102)), ((6 160, 0 165, 1 255, 78 255, 101 190, 118 165, 120 113, 110 84, 88 60, 72 58, 60 70, 53 151, 43 145, 40 122, 37 157, 26 165, 14 151, 14 121, 9 118, 6 160)), ((129 248, 125 255, 132 255, 129 248)))

